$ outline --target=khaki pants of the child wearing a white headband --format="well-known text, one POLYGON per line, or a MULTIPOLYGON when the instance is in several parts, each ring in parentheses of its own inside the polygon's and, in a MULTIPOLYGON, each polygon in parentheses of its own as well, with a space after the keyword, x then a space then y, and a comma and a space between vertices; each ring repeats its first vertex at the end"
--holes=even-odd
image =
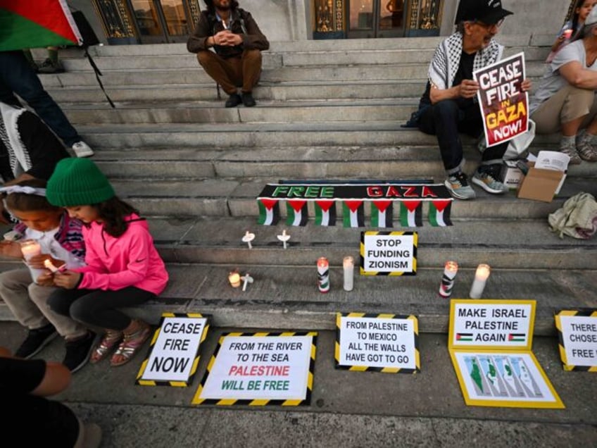
POLYGON ((8 270, 0 274, 0 297, 21 325, 32 330, 51 323, 66 339, 85 335, 87 328, 84 325, 49 309, 48 297, 58 289, 34 283, 29 269, 8 270))

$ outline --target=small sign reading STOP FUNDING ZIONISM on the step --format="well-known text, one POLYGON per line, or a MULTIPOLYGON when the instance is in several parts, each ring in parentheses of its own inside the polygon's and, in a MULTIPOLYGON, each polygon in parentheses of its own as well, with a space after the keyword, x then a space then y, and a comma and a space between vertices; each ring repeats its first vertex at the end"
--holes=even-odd
POLYGON ((361 275, 416 275, 417 232, 361 232, 361 275))

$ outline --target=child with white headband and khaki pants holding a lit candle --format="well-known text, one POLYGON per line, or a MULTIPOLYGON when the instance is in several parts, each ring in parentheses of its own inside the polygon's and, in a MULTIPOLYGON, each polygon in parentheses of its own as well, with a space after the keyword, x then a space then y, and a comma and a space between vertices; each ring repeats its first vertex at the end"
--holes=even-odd
POLYGON ((87 363, 95 335, 81 323, 49 309, 47 301, 57 288, 44 262, 67 268, 84 265, 81 223, 49 204, 45 187, 45 180, 36 179, 0 189, 6 194, 6 208, 20 220, 15 234, 27 242, 21 247, 19 241, 5 239, 0 242, 0 254, 25 259, 28 266, 0 274, 0 297, 17 321, 29 329, 15 356, 31 358, 58 333, 66 341, 63 364, 75 372, 87 363))

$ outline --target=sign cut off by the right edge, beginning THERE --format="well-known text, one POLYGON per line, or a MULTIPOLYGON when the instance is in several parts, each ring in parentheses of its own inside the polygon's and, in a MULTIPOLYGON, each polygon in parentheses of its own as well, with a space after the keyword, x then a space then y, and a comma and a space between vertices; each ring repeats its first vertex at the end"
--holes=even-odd
POLYGON ((597 309, 560 310, 555 328, 564 370, 597 372, 597 309))

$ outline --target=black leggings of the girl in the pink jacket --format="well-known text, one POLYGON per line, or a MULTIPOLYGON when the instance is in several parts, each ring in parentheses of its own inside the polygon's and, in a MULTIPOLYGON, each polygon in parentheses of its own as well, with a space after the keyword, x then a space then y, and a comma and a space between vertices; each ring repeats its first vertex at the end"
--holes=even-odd
POLYGON ((140 305, 155 297, 153 292, 134 286, 118 291, 58 290, 51 294, 48 305, 52 311, 85 325, 122 331, 131 318, 118 308, 140 305))

